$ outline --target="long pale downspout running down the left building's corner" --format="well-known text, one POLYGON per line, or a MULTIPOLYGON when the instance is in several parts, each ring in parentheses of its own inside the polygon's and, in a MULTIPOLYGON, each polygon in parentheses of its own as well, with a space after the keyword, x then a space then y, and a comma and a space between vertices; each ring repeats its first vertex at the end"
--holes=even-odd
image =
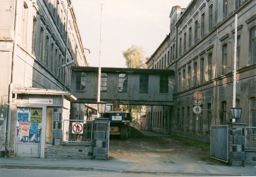
POLYGON ((7 107, 7 125, 6 125, 6 143, 5 143, 5 150, 6 156, 10 157, 10 124, 11 124, 11 107, 12 107, 12 88, 14 83, 14 64, 15 64, 15 57, 16 57, 16 49, 17 49, 17 20, 18 20, 18 13, 17 13, 17 4, 18 0, 15 2, 15 19, 14 19, 14 40, 13 40, 13 51, 12 51, 12 61, 11 61, 11 80, 9 84, 9 92, 8 92, 8 107, 7 107))

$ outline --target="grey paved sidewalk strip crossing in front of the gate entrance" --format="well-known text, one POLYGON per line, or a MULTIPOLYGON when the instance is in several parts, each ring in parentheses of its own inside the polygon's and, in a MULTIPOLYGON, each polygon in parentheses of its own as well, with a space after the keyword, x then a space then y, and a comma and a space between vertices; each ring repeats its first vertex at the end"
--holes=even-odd
MULTIPOLYGON (((170 136, 147 131, 141 132, 146 136, 170 136)), ((254 166, 230 167, 225 164, 215 165, 205 161, 187 161, 187 159, 182 161, 175 161, 174 159, 172 161, 165 161, 163 159, 157 161, 153 155, 152 153, 139 162, 121 157, 116 159, 110 158, 109 160, 0 158, 0 168, 102 171, 155 175, 256 176, 256 167, 254 166)), ((187 156, 191 156, 191 154, 188 153, 187 156)))

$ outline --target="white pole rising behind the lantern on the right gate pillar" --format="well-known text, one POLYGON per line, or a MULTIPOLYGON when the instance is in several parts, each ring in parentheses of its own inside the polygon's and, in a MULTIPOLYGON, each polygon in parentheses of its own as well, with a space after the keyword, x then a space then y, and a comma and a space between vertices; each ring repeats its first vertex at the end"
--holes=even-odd
MULTIPOLYGON (((234 44, 234 80, 233 80, 233 107, 236 107, 236 86, 237 86, 237 38, 238 38, 238 15, 235 15, 235 44, 234 44)), ((232 118, 232 123, 236 119, 232 118)))

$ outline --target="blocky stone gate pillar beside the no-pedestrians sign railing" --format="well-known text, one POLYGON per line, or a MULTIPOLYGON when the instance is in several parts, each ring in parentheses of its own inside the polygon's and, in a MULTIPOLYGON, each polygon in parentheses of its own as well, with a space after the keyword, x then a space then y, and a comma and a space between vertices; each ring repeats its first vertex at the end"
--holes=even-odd
POLYGON ((109 119, 95 118, 93 132, 93 159, 109 158, 109 119))

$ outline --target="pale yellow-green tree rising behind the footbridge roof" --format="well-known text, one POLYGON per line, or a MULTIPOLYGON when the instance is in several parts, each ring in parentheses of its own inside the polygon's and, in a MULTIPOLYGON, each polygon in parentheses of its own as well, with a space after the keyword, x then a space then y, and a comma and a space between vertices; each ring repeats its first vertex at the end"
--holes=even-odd
POLYGON ((132 45, 126 51, 123 51, 126 66, 128 68, 146 68, 144 53, 143 48, 136 45, 132 45))

